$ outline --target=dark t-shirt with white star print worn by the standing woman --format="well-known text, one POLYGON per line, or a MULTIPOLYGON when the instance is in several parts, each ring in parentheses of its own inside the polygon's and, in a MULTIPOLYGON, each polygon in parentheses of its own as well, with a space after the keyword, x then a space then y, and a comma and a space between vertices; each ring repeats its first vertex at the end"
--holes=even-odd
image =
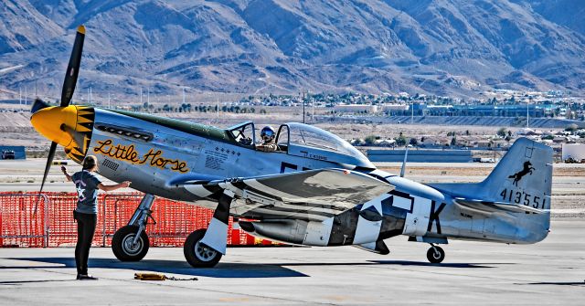
POLYGON ((83 214, 97 214, 100 179, 87 170, 71 175, 71 179, 75 183, 77 195, 79 196, 75 210, 83 214))

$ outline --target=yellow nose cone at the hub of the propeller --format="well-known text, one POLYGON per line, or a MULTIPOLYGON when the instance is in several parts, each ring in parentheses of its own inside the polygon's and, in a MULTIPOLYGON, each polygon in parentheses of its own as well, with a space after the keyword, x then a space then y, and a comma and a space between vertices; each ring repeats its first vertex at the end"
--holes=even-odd
POLYGON ((69 130, 75 131, 77 124, 77 109, 70 105, 67 107, 53 106, 36 111, 30 118, 30 122, 37 132, 52 142, 68 147, 73 138, 69 130))

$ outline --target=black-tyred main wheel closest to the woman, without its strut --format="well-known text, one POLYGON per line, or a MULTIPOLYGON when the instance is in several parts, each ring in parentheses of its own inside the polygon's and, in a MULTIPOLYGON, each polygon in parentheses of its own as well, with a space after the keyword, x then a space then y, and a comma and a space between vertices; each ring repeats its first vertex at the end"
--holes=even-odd
POLYGON ((148 253, 150 241, 143 230, 134 244, 134 237, 136 237, 137 232, 137 226, 125 226, 120 227, 120 229, 113 234, 112 251, 116 258, 121 261, 139 261, 140 259, 144 259, 146 253, 148 253))

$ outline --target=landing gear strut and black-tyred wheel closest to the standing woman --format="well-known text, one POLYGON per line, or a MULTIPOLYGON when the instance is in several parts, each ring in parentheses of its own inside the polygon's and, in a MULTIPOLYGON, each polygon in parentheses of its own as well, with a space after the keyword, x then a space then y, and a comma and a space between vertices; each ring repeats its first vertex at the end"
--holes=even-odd
POLYGON ((153 220, 154 224, 156 224, 153 216, 151 216, 153 211, 150 208, 153 204, 154 195, 144 195, 128 225, 120 227, 113 235, 112 251, 117 259, 139 261, 144 259, 146 253, 148 253, 150 241, 146 232, 144 232, 144 228, 148 224, 148 219, 153 220))

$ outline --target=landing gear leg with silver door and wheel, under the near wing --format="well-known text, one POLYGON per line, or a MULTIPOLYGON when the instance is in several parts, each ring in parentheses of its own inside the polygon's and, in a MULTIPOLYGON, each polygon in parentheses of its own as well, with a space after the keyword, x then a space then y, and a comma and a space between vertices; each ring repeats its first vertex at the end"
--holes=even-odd
POLYGON ((212 268, 226 254, 228 245, 229 206, 234 193, 225 190, 206 229, 197 229, 186 238, 183 253, 195 268, 212 268))

